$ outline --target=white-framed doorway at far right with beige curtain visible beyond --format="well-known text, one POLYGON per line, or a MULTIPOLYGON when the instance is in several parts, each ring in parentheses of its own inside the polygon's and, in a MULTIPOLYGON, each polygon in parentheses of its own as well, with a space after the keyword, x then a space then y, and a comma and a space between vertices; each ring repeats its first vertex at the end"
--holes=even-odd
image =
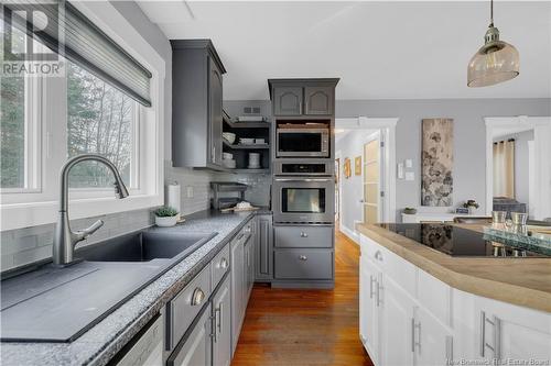
POLYGON ((551 118, 485 118, 486 214, 523 211, 551 218, 551 118), (509 210, 510 208, 510 210, 509 210))

